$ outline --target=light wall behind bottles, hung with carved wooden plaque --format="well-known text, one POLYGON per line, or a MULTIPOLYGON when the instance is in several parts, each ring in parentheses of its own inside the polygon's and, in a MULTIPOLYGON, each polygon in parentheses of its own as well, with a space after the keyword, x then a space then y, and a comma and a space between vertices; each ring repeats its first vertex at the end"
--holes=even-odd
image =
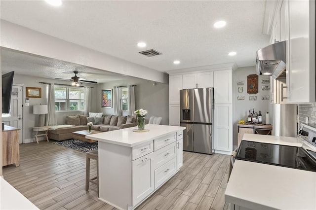
POLYGON ((272 105, 270 104, 270 100, 262 100, 262 96, 269 95, 270 96, 270 90, 262 90, 262 85, 269 85, 269 84, 262 84, 262 79, 269 79, 270 76, 266 75, 259 75, 258 79, 258 93, 257 94, 247 94, 247 76, 249 74, 256 74, 256 67, 243 67, 238 68, 234 71, 234 80, 233 80, 233 96, 234 96, 234 145, 237 146, 237 138, 238 138, 238 128, 237 123, 239 120, 244 119, 247 120, 248 117, 248 111, 250 110, 252 112, 252 108, 255 109, 255 112, 259 113, 259 110, 261 110, 262 114, 262 122, 266 122, 266 115, 267 111, 269 111, 270 114, 270 122, 272 122, 272 105), (244 85, 240 86, 237 85, 237 81, 244 81, 244 85), (238 87, 243 87, 243 93, 238 93, 238 87), (238 101, 237 96, 244 96, 244 101, 238 101), (249 96, 257 96, 257 101, 249 101, 249 96))

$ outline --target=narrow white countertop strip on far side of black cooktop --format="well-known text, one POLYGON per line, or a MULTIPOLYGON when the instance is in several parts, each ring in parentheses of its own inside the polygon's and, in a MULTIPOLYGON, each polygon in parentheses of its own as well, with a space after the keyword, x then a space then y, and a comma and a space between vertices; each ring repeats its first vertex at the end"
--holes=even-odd
POLYGON ((256 141, 262 143, 273 143, 288 146, 302 146, 302 141, 296 137, 277 137, 259 134, 244 134, 242 140, 256 141))

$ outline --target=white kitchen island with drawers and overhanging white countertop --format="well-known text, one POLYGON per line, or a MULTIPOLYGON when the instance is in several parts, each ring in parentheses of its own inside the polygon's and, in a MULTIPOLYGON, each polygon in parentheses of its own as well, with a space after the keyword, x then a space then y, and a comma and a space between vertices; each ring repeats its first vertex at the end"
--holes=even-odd
POLYGON ((132 210, 175 175, 182 166, 185 127, 145 125, 92 134, 99 145, 99 199, 132 210))

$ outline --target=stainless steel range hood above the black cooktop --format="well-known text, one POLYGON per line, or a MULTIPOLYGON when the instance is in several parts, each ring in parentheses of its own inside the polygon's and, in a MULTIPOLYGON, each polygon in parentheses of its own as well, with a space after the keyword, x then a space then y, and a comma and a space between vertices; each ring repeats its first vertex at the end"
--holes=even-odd
POLYGON ((276 42, 257 51, 257 74, 277 78, 285 70, 286 41, 276 42))

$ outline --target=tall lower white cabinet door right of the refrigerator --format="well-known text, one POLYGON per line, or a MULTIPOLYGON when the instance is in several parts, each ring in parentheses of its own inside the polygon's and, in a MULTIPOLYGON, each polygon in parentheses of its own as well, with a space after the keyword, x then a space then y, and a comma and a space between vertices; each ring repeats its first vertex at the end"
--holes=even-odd
POLYGON ((221 150, 230 154, 233 151, 232 111, 232 105, 215 105, 215 152, 216 150, 221 150))

